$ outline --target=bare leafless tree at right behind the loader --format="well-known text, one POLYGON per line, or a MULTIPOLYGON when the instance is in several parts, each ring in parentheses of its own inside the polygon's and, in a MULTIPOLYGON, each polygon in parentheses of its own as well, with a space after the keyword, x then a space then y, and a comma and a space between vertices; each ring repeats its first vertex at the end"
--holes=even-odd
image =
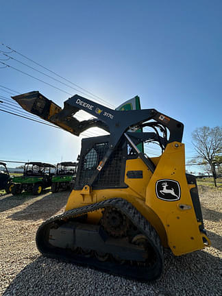
POLYGON ((217 187, 216 166, 222 153, 222 127, 198 127, 192 133, 193 145, 199 155, 197 160, 202 164, 209 164, 217 187))

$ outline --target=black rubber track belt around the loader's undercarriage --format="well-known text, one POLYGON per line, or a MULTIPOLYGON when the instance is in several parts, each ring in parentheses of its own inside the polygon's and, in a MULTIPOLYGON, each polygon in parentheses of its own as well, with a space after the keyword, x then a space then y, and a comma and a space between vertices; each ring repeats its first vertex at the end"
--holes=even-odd
MULTIPOLYGON (((121 275, 123 277, 128 277, 140 281, 150 281, 157 280, 162 274, 163 269, 163 250, 162 245, 160 243, 160 238, 154 230, 154 228, 150 225, 150 223, 143 217, 132 204, 130 204, 125 199, 114 198, 108 199, 105 201, 100 201, 97 204, 90 204, 88 206, 83 206, 82 208, 75 208, 73 210, 69 210, 64 212, 63 214, 59 214, 55 217, 49 218, 47 221, 42 223, 38 228, 36 233, 36 245, 38 250, 42 255, 47 256, 49 258, 60 258, 62 260, 68 262, 74 262, 81 265, 87 265, 88 267, 94 267, 96 269, 100 269, 102 271, 106 271, 108 273, 121 275), (106 207, 115 207, 121 212, 123 212, 134 225, 142 232, 147 239, 149 240, 150 245, 153 247, 156 253, 156 262, 151 265, 151 267, 141 267, 141 266, 133 266, 130 264, 119 264, 118 262, 100 262, 96 258, 86 258, 83 255, 75 254, 73 251, 69 249, 62 249, 59 247, 50 247, 49 243, 47 243, 47 229, 49 229, 49 225, 51 223, 56 223, 58 221, 64 221, 64 223, 68 222, 69 219, 73 219, 79 215, 87 214, 88 212, 93 212, 95 210, 99 210, 101 208, 106 207)), ((86 246, 87 248, 87 246, 86 246)))

